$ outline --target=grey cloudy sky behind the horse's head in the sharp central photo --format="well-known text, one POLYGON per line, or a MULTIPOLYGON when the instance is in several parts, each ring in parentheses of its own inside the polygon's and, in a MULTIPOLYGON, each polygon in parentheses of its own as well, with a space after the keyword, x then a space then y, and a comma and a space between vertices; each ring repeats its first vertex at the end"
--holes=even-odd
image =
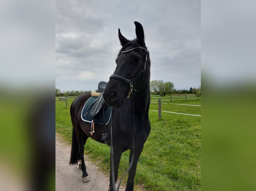
POLYGON ((56 81, 61 91, 108 82, 121 48, 118 28, 134 39, 142 24, 151 78, 177 90, 201 85, 201 1, 56 0, 56 81))

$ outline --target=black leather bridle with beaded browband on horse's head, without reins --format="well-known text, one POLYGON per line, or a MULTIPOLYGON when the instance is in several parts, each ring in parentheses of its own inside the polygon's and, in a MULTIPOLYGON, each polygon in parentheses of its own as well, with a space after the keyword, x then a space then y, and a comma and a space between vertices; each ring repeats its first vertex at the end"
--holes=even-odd
POLYGON ((135 48, 132 48, 130 50, 127 50, 127 51, 121 51, 121 53, 127 53, 127 52, 130 52, 132 50, 135 50, 135 49, 143 49, 145 52, 146 52, 146 59, 143 63, 143 65, 141 66, 141 69, 140 69, 140 72, 138 74, 138 76, 136 76, 135 78, 133 79, 128 79, 128 78, 125 78, 125 77, 122 77, 122 76, 119 76, 119 75, 116 75, 116 74, 112 74, 109 79, 118 79, 118 80, 121 80, 127 84, 130 85, 130 89, 131 89, 131 94, 135 94, 136 92, 138 92, 142 86, 143 86, 143 82, 144 82, 144 73, 146 71, 146 63, 147 63, 147 54, 148 54, 148 51, 147 49, 143 48, 143 47, 135 47, 135 48), (139 88, 135 88, 133 85, 136 84, 137 81, 141 81, 141 86, 139 88))

